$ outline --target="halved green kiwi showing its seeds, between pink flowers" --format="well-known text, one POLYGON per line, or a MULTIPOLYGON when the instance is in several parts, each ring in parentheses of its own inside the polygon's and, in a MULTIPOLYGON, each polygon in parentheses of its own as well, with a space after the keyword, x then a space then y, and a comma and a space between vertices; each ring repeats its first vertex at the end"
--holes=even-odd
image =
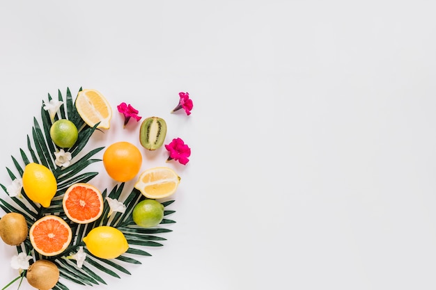
POLYGON ((142 121, 139 141, 147 150, 156 150, 164 144, 166 122, 159 117, 148 117, 142 121))

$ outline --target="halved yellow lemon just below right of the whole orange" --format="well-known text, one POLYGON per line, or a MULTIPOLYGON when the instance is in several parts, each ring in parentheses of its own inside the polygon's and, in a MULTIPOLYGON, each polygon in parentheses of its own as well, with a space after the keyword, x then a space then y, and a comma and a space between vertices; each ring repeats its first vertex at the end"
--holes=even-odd
POLYGON ((146 198, 166 198, 176 192, 180 177, 169 167, 150 168, 141 173, 134 188, 146 198))

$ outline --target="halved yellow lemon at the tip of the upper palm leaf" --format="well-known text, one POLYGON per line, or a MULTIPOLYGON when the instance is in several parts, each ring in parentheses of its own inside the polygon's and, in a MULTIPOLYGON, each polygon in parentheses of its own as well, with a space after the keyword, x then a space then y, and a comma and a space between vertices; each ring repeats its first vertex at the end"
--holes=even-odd
POLYGON ((107 99, 98 90, 81 90, 76 97, 77 113, 90 127, 109 129, 112 109, 107 99))

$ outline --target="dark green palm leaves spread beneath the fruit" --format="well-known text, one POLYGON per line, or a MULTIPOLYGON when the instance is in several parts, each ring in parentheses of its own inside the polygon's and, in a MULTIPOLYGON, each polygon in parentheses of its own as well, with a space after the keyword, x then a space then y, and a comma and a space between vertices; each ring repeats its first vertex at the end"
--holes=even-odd
MULTIPOLYGON (((81 91, 81 88, 79 91, 81 91)), ((50 101, 53 97, 48 94, 47 99, 50 101)), ((38 252, 33 250, 29 237, 24 241, 24 243, 22 243, 22 245, 17 246, 18 253, 23 251, 29 252, 33 254, 33 257, 35 257, 36 260, 48 259, 58 266, 61 279, 53 287, 54 290, 69 290, 64 284, 66 281, 80 284, 82 286, 107 284, 101 277, 102 275, 109 275, 118 278, 122 277, 122 275, 130 275, 130 272, 124 265, 142 263, 139 259, 135 259, 132 256, 150 257, 151 255, 146 250, 147 248, 155 248, 163 245, 163 242, 166 241, 166 239, 159 235, 172 232, 172 230, 162 226, 169 223, 176 223, 174 220, 166 218, 166 216, 174 214, 176 211, 165 209, 165 218, 157 227, 139 227, 132 220, 132 211, 135 205, 139 201, 145 199, 145 197, 136 188, 131 190, 126 189, 125 184, 120 183, 116 184, 110 189, 110 191, 107 188, 102 191, 104 209, 102 216, 100 216, 98 220, 87 225, 73 223, 68 220, 63 211, 63 195, 72 184, 77 182, 89 182, 98 175, 98 172, 88 171, 86 169, 91 164, 102 161, 101 159, 94 158, 94 156, 95 154, 98 154, 98 152, 101 152, 104 147, 97 147, 88 152, 84 152, 84 150, 87 149, 87 145, 89 140, 91 140, 93 133, 98 130, 98 124, 95 124, 94 127, 89 127, 84 120, 80 118, 69 88, 67 88, 65 98, 61 91, 58 90, 57 100, 62 102, 62 104, 59 107, 59 111, 55 115, 54 120, 59 120, 60 118, 68 119, 72 121, 78 129, 77 142, 68 149, 68 152, 72 155, 70 166, 67 168, 56 166, 56 156, 54 155, 54 152, 60 150, 60 148, 56 147, 50 138, 49 130, 52 125, 52 120, 50 119, 49 112, 43 108, 45 102, 42 102, 40 118, 33 118, 31 136, 26 136, 25 149, 20 148, 20 154, 18 154, 18 156, 11 156, 15 168, 6 168, 8 176, 10 177, 10 182, 14 179, 21 178, 25 166, 31 162, 40 163, 49 168, 53 172, 58 184, 56 195, 53 198, 50 207, 44 208, 41 207, 40 204, 33 202, 26 196, 24 190, 21 191, 21 196, 10 196, 7 191, 7 186, 0 184, 4 193, 6 193, 5 198, 0 198, 0 208, 6 213, 19 212, 23 214, 29 227, 38 220, 38 218, 48 214, 60 216, 70 225, 73 239, 68 248, 60 255, 54 257, 40 255, 38 252), (125 204, 125 211, 114 212, 109 215, 110 209, 109 203, 105 199, 106 197, 123 202, 123 204, 125 204), (116 259, 101 259, 95 257, 88 251, 88 249, 86 249, 83 238, 91 231, 91 229, 100 225, 116 227, 123 232, 129 243, 129 248, 125 254, 120 255, 116 259), (79 247, 84 247, 84 252, 86 252, 86 259, 81 268, 77 266, 76 261, 72 258, 72 255, 79 250, 79 247)), ((162 204, 164 207, 167 207, 170 204, 173 204, 173 202, 174 200, 169 200, 162 202, 162 204)), ((24 271, 23 275, 24 273, 26 272, 24 271)), ((10 284, 8 284, 8 286, 9 285, 10 284)))

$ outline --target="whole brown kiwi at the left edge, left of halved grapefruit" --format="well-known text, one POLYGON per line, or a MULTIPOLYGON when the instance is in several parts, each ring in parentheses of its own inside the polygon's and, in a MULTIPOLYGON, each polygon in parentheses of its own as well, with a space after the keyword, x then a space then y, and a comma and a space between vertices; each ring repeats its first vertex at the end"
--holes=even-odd
POLYGON ((20 245, 27 239, 29 227, 19 213, 8 213, 0 219, 0 237, 8 245, 20 245))

